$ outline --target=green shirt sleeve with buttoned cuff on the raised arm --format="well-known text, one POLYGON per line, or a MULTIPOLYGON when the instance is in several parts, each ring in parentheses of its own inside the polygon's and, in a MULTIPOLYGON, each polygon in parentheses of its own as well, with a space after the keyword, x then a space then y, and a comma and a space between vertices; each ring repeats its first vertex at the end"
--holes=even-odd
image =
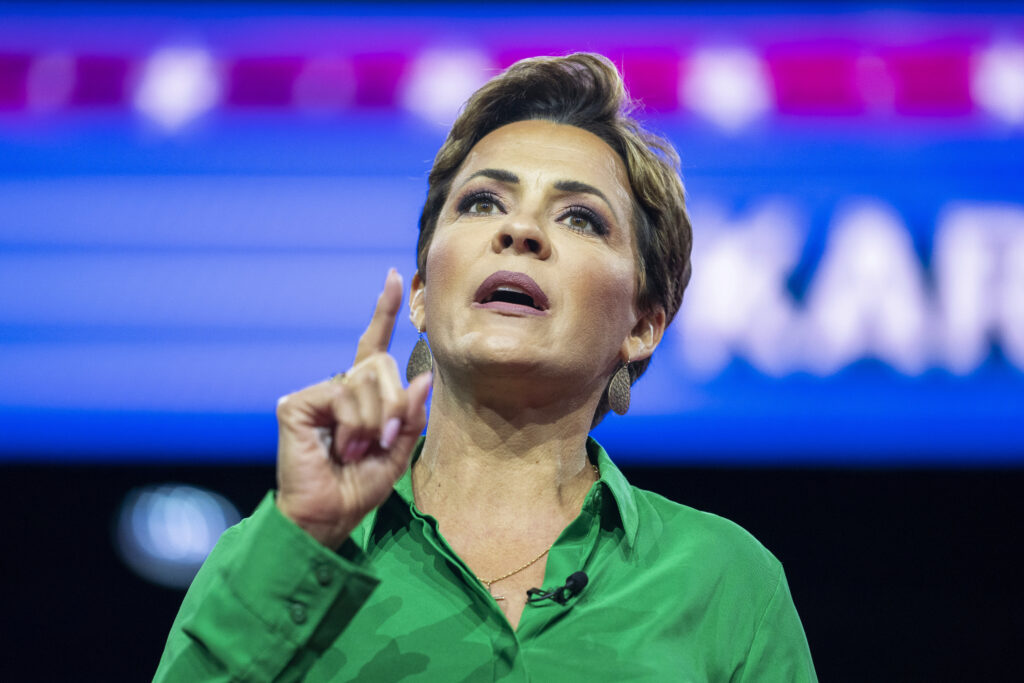
POLYGON ((300 680, 377 584, 354 543, 332 552, 267 494, 196 575, 154 680, 300 680))

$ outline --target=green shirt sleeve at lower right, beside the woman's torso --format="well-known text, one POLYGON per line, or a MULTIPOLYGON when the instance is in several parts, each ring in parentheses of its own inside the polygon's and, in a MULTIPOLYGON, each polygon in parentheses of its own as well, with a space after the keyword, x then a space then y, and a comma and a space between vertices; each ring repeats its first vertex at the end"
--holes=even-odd
POLYGON ((736 683, 817 683, 804 627, 779 567, 778 583, 754 634, 736 683))

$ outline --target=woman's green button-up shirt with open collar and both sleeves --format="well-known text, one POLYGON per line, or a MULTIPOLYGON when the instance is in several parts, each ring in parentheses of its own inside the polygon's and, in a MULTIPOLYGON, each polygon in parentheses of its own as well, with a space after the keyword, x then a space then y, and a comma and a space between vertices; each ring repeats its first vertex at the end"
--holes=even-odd
POLYGON ((527 604, 513 630, 417 510, 409 472, 338 552, 268 494, 200 569, 156 680, 816 681, 778 560, 588 450, 600 481, 544 582, 587 573, 565 605, 527 604))

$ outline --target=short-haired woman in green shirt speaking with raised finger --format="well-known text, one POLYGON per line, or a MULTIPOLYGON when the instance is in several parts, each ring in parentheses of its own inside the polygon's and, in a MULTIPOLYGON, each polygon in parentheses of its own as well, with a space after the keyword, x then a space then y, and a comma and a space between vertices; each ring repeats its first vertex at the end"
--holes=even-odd
POLYGON ((432 372, 403 388, 387 355, 391 271, 354 365, 280 401, 276 496, 196 578, 159 680, 815 680, 779 562, 588 437, 689 279, 677 157, 627 103, 591 54, 473 95, 410 288, 432 372))

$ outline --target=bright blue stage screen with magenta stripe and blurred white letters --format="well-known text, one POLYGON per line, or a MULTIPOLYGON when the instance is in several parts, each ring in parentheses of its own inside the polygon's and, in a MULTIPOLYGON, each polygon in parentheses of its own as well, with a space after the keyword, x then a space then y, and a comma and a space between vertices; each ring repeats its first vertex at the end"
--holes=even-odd
POLYGON ((678 146, 694 224, 609 450, 1024 464, 1006 7, 0 5, 0 459, 272 459, 276 398, 344 370, 413 274, 468 93, 596 50, 678 146))

